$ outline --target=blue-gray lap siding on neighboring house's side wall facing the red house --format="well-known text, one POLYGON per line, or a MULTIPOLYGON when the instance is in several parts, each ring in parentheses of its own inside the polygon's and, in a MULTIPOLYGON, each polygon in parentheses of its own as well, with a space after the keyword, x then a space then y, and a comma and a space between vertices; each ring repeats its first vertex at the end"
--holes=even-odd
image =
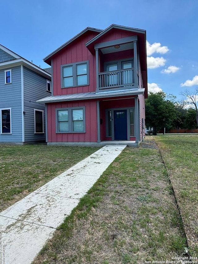
POLYGON ((45 132, 45 104, 36 103, 37 100, 50 96, 46 91, 46 78, 24 67, 24 128, 25 142, 45 141, 45 133, 34 132, 34 109, 44 110, 45 132))

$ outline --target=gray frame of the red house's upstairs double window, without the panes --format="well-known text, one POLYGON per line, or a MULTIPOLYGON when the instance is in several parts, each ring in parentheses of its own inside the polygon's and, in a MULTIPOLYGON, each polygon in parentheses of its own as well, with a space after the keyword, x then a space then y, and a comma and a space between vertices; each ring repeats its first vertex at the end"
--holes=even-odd
POLYGON ((76 63, 70 63, 70 64, 64 64, 61 65, 61 88, 70 88, 70 87, 82 87, 82 86, 88 86, 89 85, 89 61, 81 61, 81 62, 76 62, 76 63), (86 64, 87 65, 87 84, 80 84, 78 85, 77 77, 80 75, 77 75, 77 66, 81 64, 86 64), (65 67, 71 67, 72 66, 72 77, 73 78, 73 85, 72 86, 66 86, 64 87, 64 80, 63 80, 63 68, 65 67))

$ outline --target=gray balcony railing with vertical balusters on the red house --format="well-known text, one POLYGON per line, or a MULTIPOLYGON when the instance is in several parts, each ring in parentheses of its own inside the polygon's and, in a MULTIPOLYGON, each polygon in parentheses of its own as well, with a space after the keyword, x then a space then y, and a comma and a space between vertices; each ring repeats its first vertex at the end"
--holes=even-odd
POLYGON ((122 69, 116 71, 100 72, 99 76, 99 89, 129 87, 135 84, 135 69, 122 69))

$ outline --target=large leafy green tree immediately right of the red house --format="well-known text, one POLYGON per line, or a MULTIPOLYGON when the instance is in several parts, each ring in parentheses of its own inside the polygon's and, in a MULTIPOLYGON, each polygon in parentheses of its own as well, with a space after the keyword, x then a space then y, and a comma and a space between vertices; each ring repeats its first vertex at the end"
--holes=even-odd
POLYGON ((153 134, 157 135, 157 130, 161 128, 170 129, 176 119, 175 105, 166 99, 166 93, 149 93, 145 100, 145 123, 148 127, 153 127, 153 134))

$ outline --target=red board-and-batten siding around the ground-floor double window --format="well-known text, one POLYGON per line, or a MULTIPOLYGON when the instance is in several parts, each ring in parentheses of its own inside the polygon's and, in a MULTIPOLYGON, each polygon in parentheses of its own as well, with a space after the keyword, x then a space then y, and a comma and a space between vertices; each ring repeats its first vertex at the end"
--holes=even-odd
POLYGON ((97 142, 96 101, 75 101, 47 104, 48 142, 97 142), (56 108, 85 106, 85 133, 56 133, 56 108))

